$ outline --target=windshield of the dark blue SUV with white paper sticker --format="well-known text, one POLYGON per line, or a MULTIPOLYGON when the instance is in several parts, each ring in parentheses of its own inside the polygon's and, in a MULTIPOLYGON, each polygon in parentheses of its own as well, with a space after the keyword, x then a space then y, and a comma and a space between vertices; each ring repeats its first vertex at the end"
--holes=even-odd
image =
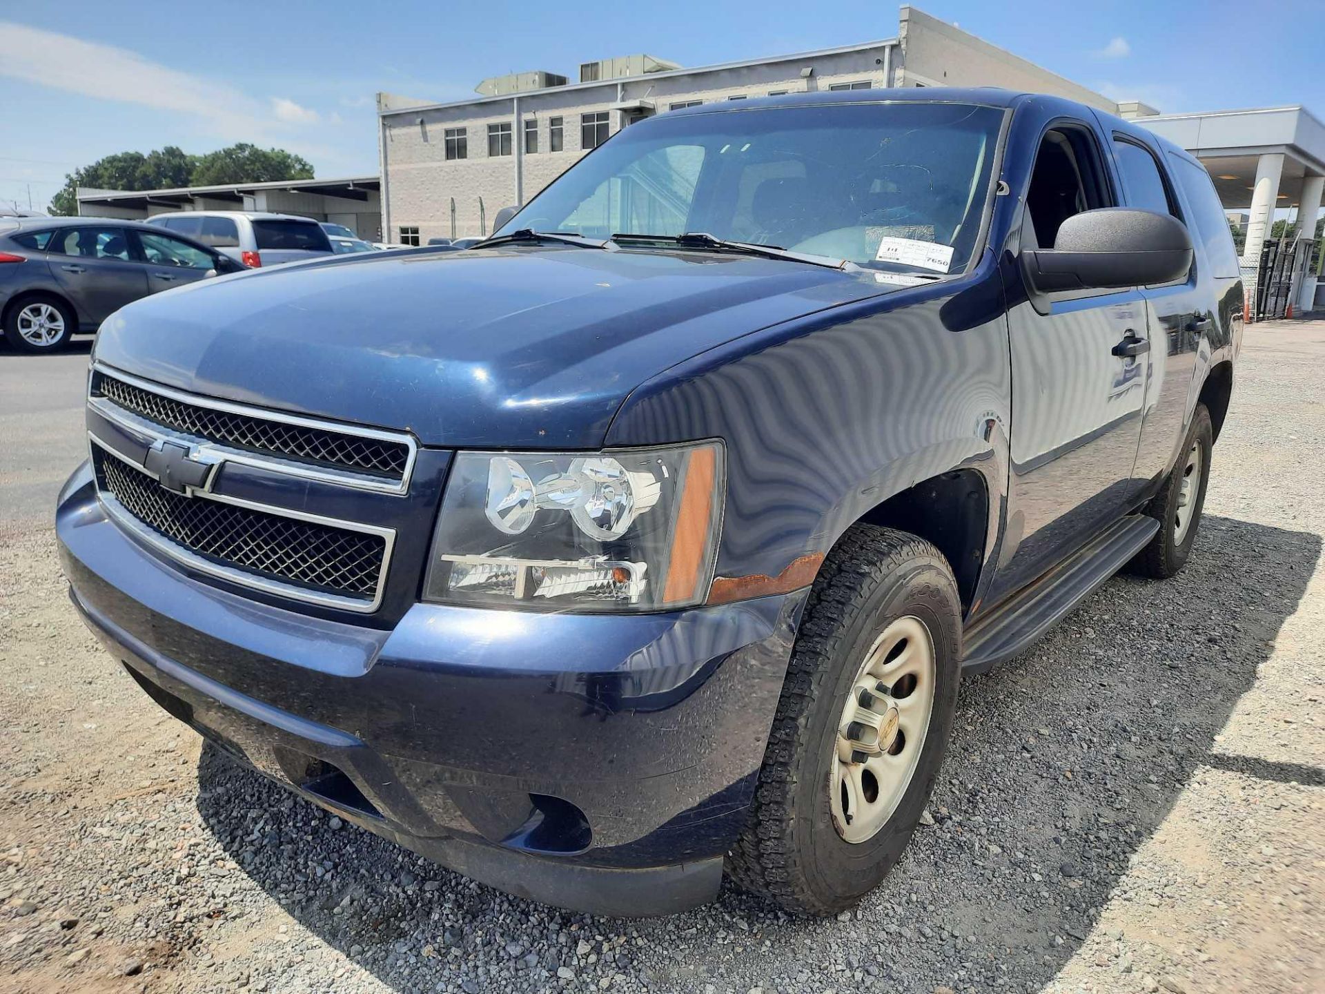
POLYGON ((570 168, 497 233, 705 232, 955 273, 975 249, 1002 118, 937 102, 661 115, 570 168))

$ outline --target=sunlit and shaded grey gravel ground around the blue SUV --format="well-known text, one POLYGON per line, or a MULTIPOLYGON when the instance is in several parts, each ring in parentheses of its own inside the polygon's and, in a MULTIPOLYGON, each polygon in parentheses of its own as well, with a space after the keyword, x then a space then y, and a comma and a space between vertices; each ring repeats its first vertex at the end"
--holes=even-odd
POLYGON ((967 680, 931 823, 828 921, 570 914, 341 824, 159 712, 11 527, 0 990, 1320 991, 1322 372, 1325 322, 1248 330, 1186 571, 967 680))

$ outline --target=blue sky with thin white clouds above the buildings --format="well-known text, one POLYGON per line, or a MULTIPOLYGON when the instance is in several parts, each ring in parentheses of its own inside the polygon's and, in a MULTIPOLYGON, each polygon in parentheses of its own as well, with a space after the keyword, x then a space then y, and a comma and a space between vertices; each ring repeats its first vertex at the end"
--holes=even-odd
MULTIPOLYGON (((1113 99, 1167 113, 1304 103, 1325 117, 1325 0, 917 7, 1113 99)), ((322 178, 375 174, 378 90, 462 99, 488 76, 575 78, 580 62, 639 52, 700 66, 896 34, 888 0, 277 0, 228 12, 0 0, 0 201, 26 207, 30 191, 40 209, 66 172, 164 144, 253 142, 298 152, 322 178)))

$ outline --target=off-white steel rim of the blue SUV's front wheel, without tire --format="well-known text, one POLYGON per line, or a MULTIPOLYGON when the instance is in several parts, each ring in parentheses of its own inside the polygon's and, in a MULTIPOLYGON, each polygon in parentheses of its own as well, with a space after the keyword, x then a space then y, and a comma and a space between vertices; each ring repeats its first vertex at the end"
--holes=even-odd
POLYGON ((865 653, 828 774, 833 827, 845 842, 873 839, 901 803, 925 751, 935 673, 934 640, 910 615, 884 628, 865 653))

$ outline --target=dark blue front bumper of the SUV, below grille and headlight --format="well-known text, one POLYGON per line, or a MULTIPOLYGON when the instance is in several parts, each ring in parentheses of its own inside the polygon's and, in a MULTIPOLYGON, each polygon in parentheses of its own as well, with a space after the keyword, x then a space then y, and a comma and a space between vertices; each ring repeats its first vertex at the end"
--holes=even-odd
POLYGON ((56 526, 107 649, 284 786, 550 904, 648 914, 717 892, 803 592, 635 616, 415 604, 382 631, 184 575, 106 518, 86 467, 56 526))

